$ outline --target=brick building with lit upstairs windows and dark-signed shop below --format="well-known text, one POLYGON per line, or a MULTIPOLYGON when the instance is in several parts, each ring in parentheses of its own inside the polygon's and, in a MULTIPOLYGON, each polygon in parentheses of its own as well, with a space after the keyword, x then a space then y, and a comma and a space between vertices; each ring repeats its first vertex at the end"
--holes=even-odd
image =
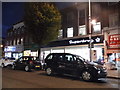
MULTIPOLYGON (((119 7, 119 2, 117 3, 119 7)), ((108 61, 108 49, 106 49, 106 37, 107 31, 111 31, 111 34, 118 33, 116 31, 109 30, 111 27, 111 17, 113 20, 119 20, 120 13, 118 13, 118 7, 114 3, 101 2, 91 3, 91 20, 96 20, 96 23, 92 24, 92 60, 105 60, 108 61), (110 4, 113 4, 112 6, 110 4), (112 15, 113 14, 113 15, 112 15), (118 16, 116 16, 118 15, 118 16), (105 28, 108 27, 107 30, 105 28), (114 33, 113 33, 113 32, 114 33)), ((49 43, 47 46, 41 48, 41 59, 44 59, 49 53, 65 52, 77 54, 90 60, 89 49, 89 7, 88 3, 75 3, 75 5, 62 9, 62 28, 60 30, 58 40, 49 43)), ((112 21, 113 21, 112 20, 112 21)), ((116 21, 118 25, 118 22, 116 21)), ((110 35, 111 35, 110 34, 110 35)), ((117 49, 118 51, 118 49, 117 49)), ((113 52, 112 52, 113 53, 113 52)), ((119 53, 119 52, 118 52, 119 53)))

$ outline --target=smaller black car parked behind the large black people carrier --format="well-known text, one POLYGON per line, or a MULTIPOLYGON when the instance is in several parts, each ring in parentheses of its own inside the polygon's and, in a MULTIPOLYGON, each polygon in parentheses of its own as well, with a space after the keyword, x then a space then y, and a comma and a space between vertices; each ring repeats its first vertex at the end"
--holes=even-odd
POLYGON ((41 69, 41 64, 37 57, 23 56, 13 63, 12 69, 24 69, 28 72, 32 69, 41 69))

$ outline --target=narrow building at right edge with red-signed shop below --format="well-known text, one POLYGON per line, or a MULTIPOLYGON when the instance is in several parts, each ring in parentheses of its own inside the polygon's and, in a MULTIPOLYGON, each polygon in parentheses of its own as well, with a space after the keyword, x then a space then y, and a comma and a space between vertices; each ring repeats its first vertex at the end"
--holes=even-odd
POLYGON ((103 29, 105 38, 105 60, 120 66, 120 2, 109 3, 109 26, 103 29))

